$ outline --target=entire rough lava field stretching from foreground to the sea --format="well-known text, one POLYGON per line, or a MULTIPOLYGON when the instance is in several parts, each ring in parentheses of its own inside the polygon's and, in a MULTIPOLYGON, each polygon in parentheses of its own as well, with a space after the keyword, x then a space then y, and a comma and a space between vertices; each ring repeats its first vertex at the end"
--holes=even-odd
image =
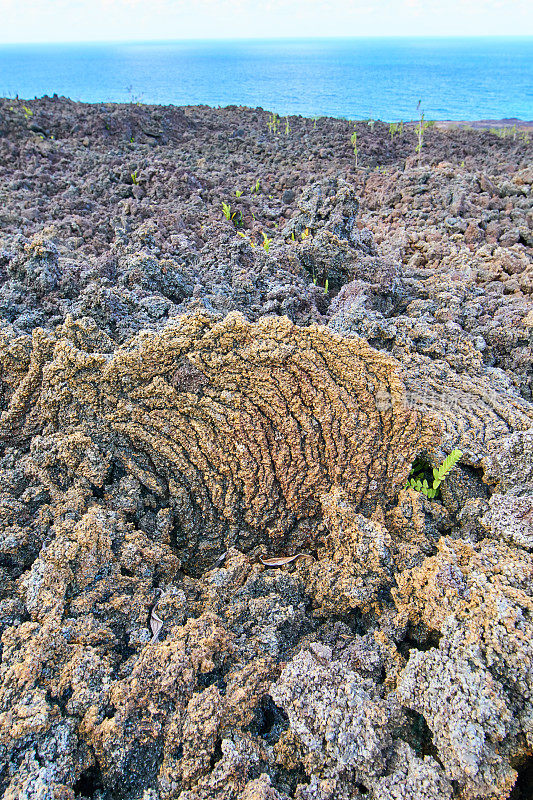
POLYGON ((4 800, 532 797, 528 135, 268 120, 0 100, 4 800))

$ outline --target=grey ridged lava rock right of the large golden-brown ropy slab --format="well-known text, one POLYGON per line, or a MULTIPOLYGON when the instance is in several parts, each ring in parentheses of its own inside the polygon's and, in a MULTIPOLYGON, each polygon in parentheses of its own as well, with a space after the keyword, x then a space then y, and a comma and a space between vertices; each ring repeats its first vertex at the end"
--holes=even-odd
POLYGON ((333 330, 363 336, 398 359, 409 402, 439 419, 445 452, 458 447, 479 466, 492 444, 531 428, 531 403, 502 370, 483 365, 459 326, 430 325, 407 315, 390 320, 372 308, 371 295, 357 282, 343 287, 330 314, 333 330))

